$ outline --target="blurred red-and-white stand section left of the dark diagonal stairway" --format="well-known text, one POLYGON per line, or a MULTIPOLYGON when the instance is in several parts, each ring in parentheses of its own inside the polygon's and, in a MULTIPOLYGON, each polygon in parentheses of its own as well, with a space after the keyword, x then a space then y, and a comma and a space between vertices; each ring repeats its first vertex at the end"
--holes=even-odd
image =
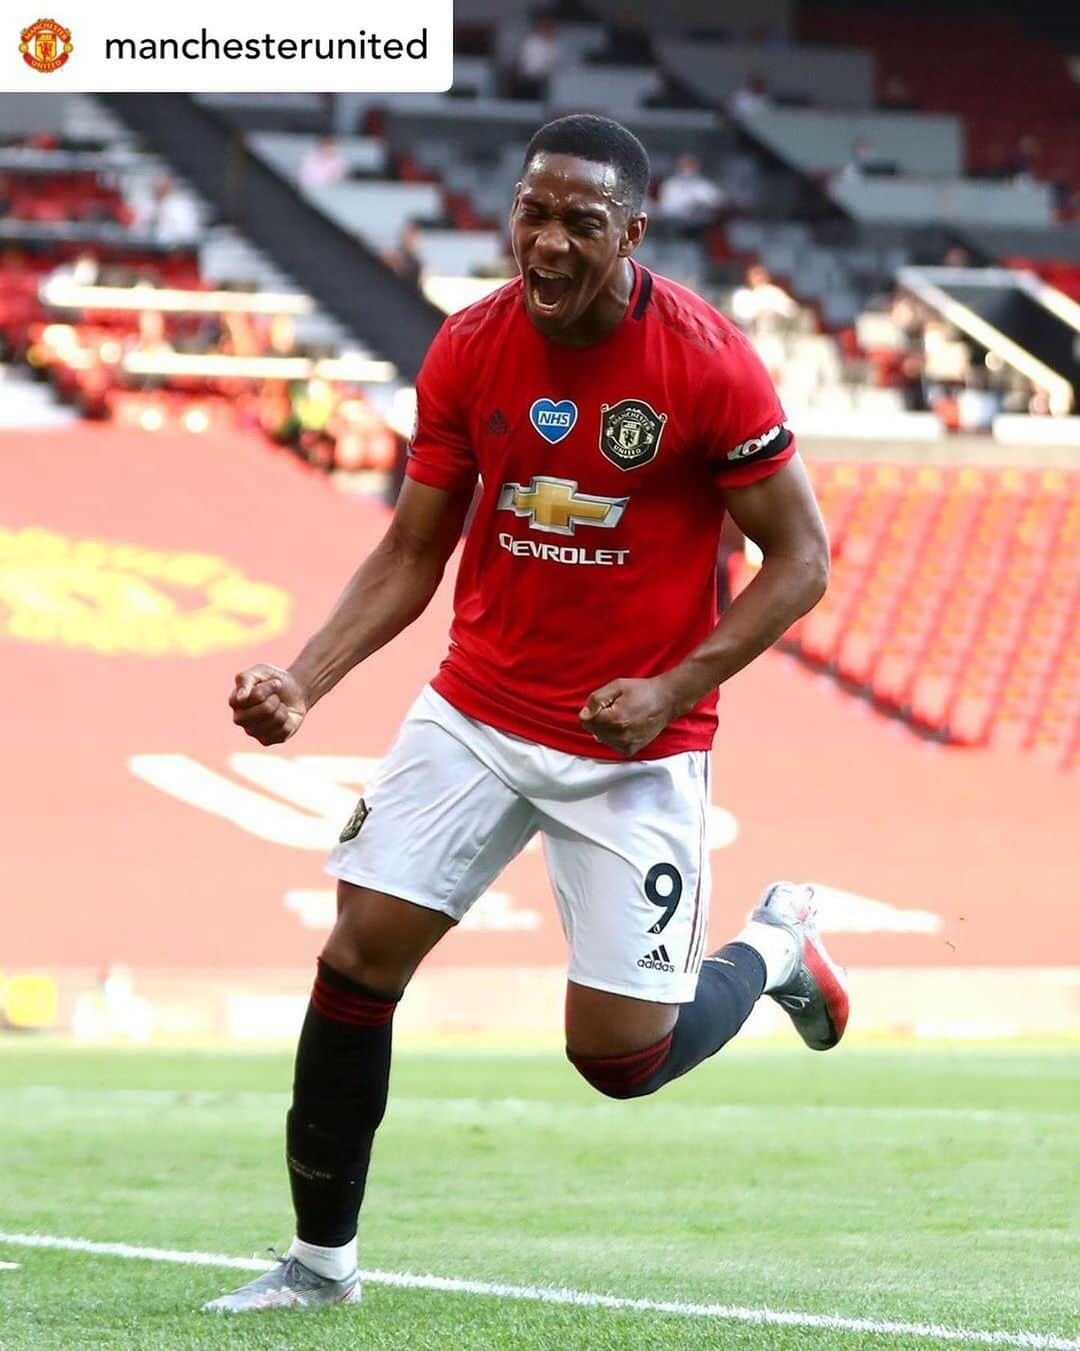
MULTIPOLYGON (((238 420, 308 463, 385 490, 400 443, 365 390, 393 378, 291 278, 166 177, 122 126, 73 100, 57 132, 0 150, 8 203, 0 345, 87 417, 189 432, 238 420), (80 139, 89 112, 96 141, 80 139), (345 354, 345 359, 342 355, 345 354)), ((27 382, 4 420, 31 412, 27 382)))

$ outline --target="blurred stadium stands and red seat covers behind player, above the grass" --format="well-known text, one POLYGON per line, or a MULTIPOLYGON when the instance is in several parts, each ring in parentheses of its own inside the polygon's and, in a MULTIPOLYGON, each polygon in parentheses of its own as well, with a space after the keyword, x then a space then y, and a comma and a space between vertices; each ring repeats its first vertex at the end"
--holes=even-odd
MULTIPOLYGON (((826 600, 722 694, 712 936, 808 878, 853 1028, 1075 1029, 1080 34, 914 14, 457 0, 446 95, 0 96, 0 1025, 299 1024, 322 855, 449 582, 281 750, 232 674, 378 539, 428 342, 512 274, 526 142, 596 111, 652 155, 641 259, 750 334, 833 538, 826 600)), ((754 559, 719 563, 730 593, 754 559)), ((562 982, 526 852, 399 1021, 557 1035, 562 982)))

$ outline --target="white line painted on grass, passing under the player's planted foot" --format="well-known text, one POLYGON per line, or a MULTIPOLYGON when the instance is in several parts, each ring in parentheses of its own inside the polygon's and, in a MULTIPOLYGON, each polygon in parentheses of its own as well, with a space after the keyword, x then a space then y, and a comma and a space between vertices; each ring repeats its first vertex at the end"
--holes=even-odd
MULTIPOLYGON (((265 1258, 230 1258, 219 1252, 189 1252, 177 1248, 145 1248, 131 1243, 96 1243, 92 1239, 65 1239, 49 1233, 5 1233, 0 1243, 24 1248, 61 1248, 95 1256, 139 1258, 145 1262, 176 1262, 184 1266, 230 1267, 234 1271, 269 1271, 265 1258)), ((1030 1347, 1031 1351, 1080 1351, 1080 1339, 1056 1337, 1044 1332, 989 1332, 980 1328, 949 1328, 937 1323, 898 1323, 880 1319, 845 1319, 831 1313, 789 1313, 781 1309, 746 1309, 731 1304, 683 1304, 676 1300, 631 1300, 592 1290, 568 1290, 550 1285, 503 1285, 497 1281, 462 1281, 445 1275, 415 1275, 411 1271, 364 1271, 372 1285, 392 1285, 407 1290, 441 1290, 446 1294, 480 1294, 496 1300, 529 1300, 537 1304, 570 1304, 587 1309, 629 1309, 635 1313, 672 1313, 684 1319, 716 1319, 727 1323, 754 1323, 766 1327, 819 1328, 826 1332, 866 1332, 875 1336, 927 1337, 934 1342, 966 1342, 975 1346, 1030 1347)))

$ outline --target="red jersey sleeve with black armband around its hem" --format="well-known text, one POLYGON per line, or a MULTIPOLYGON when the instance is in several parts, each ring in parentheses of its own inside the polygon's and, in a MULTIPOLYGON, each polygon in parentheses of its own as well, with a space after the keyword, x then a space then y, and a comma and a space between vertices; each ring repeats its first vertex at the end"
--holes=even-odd
POLYGON ((775 474, 795 454, 795 436, 768 370, 735 331, 704 373, 699 426, 720 488, 746 488, 775 474))

